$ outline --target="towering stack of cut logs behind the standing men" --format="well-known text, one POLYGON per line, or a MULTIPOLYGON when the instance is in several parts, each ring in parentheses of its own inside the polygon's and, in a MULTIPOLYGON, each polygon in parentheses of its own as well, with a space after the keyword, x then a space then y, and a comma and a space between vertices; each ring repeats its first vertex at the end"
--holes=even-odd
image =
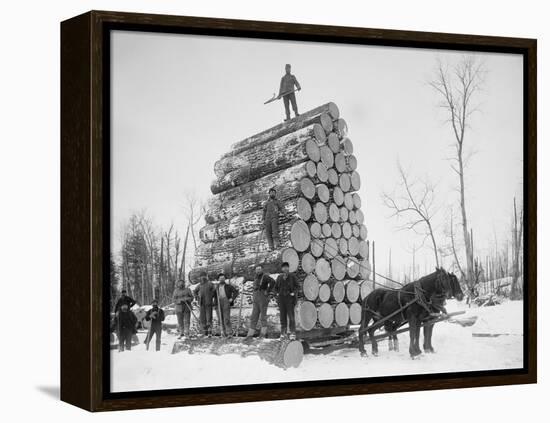
POLYGON ((214 196, 189 277, 233 277, 244 293, 232 312, 241 325, 248 322, 255 266, 276 274, 285 261, 299 281, 299 331, 360 323, 360 301, 372 282, 361 179, 347 135, 338 107, 327 103, 237 142, 215 163, 214 196), (286 211, 275 251, 263 231, 272 187, 286 211))

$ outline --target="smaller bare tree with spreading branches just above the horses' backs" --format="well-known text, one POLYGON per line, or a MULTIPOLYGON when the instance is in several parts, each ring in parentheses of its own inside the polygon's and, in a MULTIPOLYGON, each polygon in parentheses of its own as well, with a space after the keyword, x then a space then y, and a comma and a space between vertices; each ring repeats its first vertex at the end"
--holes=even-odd
POLYGON ((427 179, 410 181, 409 176, 397 163, 399 182, 393 192, 382 193, 382 200, 393 213, 392 217, 404 218, 399 230, 414 231, 429 239, 432 244, 436 266, 439 267, 439 255, 434 234, 433 217, 437 212, 435 206, 435 187, 427 179))

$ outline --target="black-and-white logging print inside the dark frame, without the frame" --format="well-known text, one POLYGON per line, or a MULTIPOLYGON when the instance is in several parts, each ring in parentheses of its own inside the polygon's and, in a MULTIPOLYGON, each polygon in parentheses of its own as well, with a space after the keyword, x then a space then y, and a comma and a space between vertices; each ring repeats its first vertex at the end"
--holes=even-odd
POLYGON ((110 32, 113 393, 524 367, 524 57, 110 32))

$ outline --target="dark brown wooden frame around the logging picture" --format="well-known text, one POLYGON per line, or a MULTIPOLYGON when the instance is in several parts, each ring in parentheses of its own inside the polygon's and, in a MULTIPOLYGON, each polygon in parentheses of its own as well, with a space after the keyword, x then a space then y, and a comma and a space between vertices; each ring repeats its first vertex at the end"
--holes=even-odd
POLYGON ((61 399, 90 411, 536 383, 536 40, 91 11, 61 24, 61 399), (523 55, 524 368, 133 393, 109 392, 109 31, 149 31, 523 55), (105 303, 105 300, 107 302, 105 303))

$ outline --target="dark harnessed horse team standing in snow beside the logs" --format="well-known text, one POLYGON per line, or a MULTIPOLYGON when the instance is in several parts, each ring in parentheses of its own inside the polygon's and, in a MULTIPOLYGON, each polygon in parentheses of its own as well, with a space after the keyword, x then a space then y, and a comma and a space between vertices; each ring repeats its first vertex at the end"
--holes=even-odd
MULTIPOLYGON (((394 333, 405 323, 409 324, 411 358, 421 354, 419 345, 420 327, 422 323, 435 314, 445 310, 445 300, 456 298, 462 301, 464 293, 460 288, 457 277, 442 268, 436 268, 434 273, 405 285, 401 289, 377 288, 363 300, 361 312, 361 327, 359 329, 359 351, 366 356, 364 336, 369 322, 374 323, 387 317, 383 323, 390 336, 390 350, 398 350, 397 335, 394 333)), ((424 351, 435 352, 432 346, 432 332, 434 324, 424 326, 424 351)), ((380 327, 380 326, 378 326, 380 327)), ((369 332, 372 345, 372 354, 378 354, 378 343, 374 338, 374 327, 369 332)))

